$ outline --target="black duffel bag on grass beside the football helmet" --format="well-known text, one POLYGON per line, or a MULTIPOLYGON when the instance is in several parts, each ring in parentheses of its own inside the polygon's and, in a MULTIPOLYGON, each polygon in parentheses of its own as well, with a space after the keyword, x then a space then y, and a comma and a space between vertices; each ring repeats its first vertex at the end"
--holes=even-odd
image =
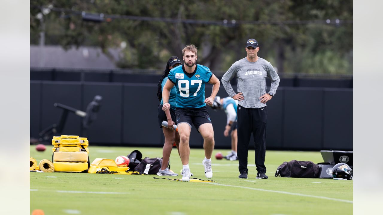
POLYGON ((291 178, 318 178, 319 166, 312 161, 283 162, 275 172, 275 177, 291 177, 291 178))

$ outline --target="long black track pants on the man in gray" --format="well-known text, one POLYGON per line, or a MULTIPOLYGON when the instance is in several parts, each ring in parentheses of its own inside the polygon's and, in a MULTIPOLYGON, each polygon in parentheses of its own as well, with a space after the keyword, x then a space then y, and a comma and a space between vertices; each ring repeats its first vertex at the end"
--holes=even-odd
POLYGON ((247 153, 249 151, 250 135, 253 133, 255 145, 255 166, 258 173, 266 173, 266 119, 267 107, 244 108, 238 105, 237 108, 237 154, 239 160, 239 172, 247 169, 247 153))

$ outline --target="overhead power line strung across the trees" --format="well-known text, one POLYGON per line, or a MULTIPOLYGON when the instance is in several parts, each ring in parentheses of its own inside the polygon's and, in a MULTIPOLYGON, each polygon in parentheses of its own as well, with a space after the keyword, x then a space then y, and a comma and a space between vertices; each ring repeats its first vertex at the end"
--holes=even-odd
MULTIPOLYGON (((32 6, 35 7, 36 6, 32 6)), ((46 7, 37 7, 41 10, 47 9, 46 7)), ((352 24, 352 20, 339 20, 339 19, 327 19, 327 20, 283 20, 283 21, 244 21, 244 20, 191 20, 191 19, 175 19, 164 17, 149 17, 149 16, 129 16, 129 15, 115 15, 115 14, 103 14, 103 13, 88 13, 85 11, 75 11, 65 8, 50 7, 49 10, 65 13, 62 18, 68 18, 69 15, 81 15, 85 21, 112 21, 112 20, 138 20, 138 21, 158 21, 165 23, 188 23, 188 24, 202 24, 202 25, 219 25, 226 27, 235 27, 240 24, 266 24, 266 25, 301 25, 301 24, 352 24)))

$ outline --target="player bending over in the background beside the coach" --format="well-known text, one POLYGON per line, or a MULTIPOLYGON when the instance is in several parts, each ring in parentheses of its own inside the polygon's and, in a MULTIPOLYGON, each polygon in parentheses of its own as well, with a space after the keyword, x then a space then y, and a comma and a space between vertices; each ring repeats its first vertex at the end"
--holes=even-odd
POLYGON ((238 160, 237 156, 237 105, 238 101, 232 98, 225 97, 221 98, 216 96, 213 104, 210 106, 212 109, 224 110, 226 113, 227 121, 223 135, 231 137, 231 151, 224 158, 230 161, 238 160))

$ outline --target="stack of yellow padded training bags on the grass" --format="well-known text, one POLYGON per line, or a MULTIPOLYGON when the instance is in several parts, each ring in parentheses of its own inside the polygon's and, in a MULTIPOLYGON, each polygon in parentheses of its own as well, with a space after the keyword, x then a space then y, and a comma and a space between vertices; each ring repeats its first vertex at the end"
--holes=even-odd
POLYGON ((52 145, 55 172, 86 172, 89 169, 88 138, 76 135, 54 136, 52 145))

